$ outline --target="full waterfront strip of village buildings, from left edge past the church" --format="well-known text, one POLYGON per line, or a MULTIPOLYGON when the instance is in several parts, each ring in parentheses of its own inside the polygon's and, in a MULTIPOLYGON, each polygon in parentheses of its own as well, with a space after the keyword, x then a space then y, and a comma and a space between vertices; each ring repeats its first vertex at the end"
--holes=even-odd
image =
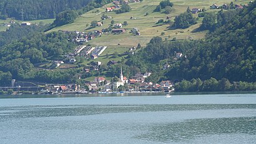
POLYGON ((7 91, 12 89, 17 94, 28 92, 31 94, 89 94, 89 93, 125 93, 125 92, 172 92, 174 83, 172 81, 161 81, 160 83, 145 82, 151 73, 137 73, 130 79, 122 74, 111 81, 104 77, 95 77, 94 81, 88 81, 81 86, 79 84, 45 84, 39 86, 33 83, 16 82, 12 79, 11 87, 1 87, 7 91))

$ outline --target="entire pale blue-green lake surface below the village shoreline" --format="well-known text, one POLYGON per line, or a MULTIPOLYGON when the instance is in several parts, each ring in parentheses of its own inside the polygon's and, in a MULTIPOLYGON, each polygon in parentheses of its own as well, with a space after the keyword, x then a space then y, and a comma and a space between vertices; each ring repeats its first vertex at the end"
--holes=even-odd
POLYGON ((256 143, 256 94, 141 95, 0 96, 0 143, 256 143))

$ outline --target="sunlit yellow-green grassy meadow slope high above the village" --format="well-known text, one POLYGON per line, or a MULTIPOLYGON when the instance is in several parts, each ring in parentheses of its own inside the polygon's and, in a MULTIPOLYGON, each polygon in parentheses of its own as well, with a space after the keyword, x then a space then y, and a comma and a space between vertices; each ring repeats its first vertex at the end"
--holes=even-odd
MULTIPOLYGON (((79 31, 92 31, 92 30, 101 30, 104 28, 109 27, 111 24, 111 20, 115 20, 116 23, 123 23, 124 21, 128 22, 128 25, 124 27, 127 29, 126 34, 104 34, 102 37, 95 38, 94 40, 91 40, 89 43, 92 45, 106 45, 108 46, 107 50, 109 52, 102 53, 102 56, 106 54, 112 54, 114 52, 126 52, 128 48, 137 46, 138 43, 140 43, 142 46, 145 46, 149 40, 154 36, 161 35, 162 32, 165 34, 161 37, 163 39, 168 38, 172 39, 176 37, 179 39, 185 39, 189 36, 198 39, 204 37, 207 31, 204 32, 197 32, 196 29, 200 26, 202 22, 202 18, 198 20, 198 24, 192 25, 191 27, 187 29, 169 29, 169 25, 161 25, 154 27, 156 25, 156 22, 159 19, 166 20, 166 17, 171 17, 171 21, 173 22, 175 19, 175 16, 179 15, 182 12, 185 12, 187 7, 189 6, 190 9, 193 7, 198 7, 200 9, 205 8, 209 9, 209 6, 212 4, 218 4, 219 6, 222 6, 224 3, 229 4, 231 0, 215 0, 215 1, 209 1, 209 0, 171 0, 171 2, 174 3, 174 11, 167 15, 160 12, 153 12, 155 7, 159 5, 159 2, 161 0, 144 0, 143 2, 137 2, 137 3, 130 3, 129 6, 132 8, 131 12, 126 12, 123 14, 116 14, 115 12, 105 12, 106 7, 112 6, 113 4, 108 4, 107 6, 94 9, 92 11, 86 12, 86 14, 83 14, 79 18, 75 20, 72 24, 63 25, 61 27, 56 27, 55 29, 52 29, 51 31, 57 31, 57 30, 79 30, 79 31), (96 12, 99 10, 99 12, 96 12), (148 16, 145 16, 146 12, 149 13, 148 16), (91 28, 88 25, 91 25, 92 20, 101 21, 102 14, 106 14, 107 16, 112 16, 113 19, 106 19, 104 20, 104 24, 101 27, 95 27, 91 28), (130 19, 130 17, 135 17, 136 19, 130 19), (87 26, 86 26, 87 25, 87 26), (130 34, 129 31, 133 27, 137 27, 140 29, 139 36, 134 36, 133 34, 130 34), (117 44, 120 45, 117 45, 117 44)), ((239 0, 235 1, 236 4, 247 4, 249 3, 249 0, 239 0)), ((216 10, 208 10, 210 11, 216 11, 216 10)), ((196 17, 197 14, 194 14, 196 17)))

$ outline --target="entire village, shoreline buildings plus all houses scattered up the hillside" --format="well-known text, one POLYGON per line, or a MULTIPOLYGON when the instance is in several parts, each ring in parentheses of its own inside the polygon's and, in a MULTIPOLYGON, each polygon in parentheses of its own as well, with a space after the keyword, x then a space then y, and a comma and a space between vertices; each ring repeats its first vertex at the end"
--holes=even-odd
MULTIPOLYGON (((125 4, 129 2, 140 2, 139 0, 133 1, 124 1, 125 4)), ((113 1, 114 6, 106 7, 106 13, 116 11, 120 9, 120 1, 113 1)), ((230 4, 224 4, 223 6, 218 6, 217 4, 213 4, 210 6, 210 9, 243 9, 242 5, 234 4, 232 7, 230 4)), ((197 14, 197 12, 202 12, 202 9, 192 8, 192 14, 197 14)), ((106 15, 102 16, 103 19, 112 19, 112 17, 108 17, 106 15)), ((130 17, 130 19, 135 19, 135 17, 130 17)), ((166 19, 170 19, 167 16, 166 19)), ((91 45, 87 45, 87 43, 97 37, 101 37, 102 34, 124 34, 127 32, 127 29, 124 29, 127 22, 123 24, 120 23, 112 23, 108 29, 100 29, 100 27, 104 24, 103 22, 96 22, 96 24, 92 24, 92 27, 99 27, 100 30, 94 30, 92 32, 79 32, 79 31, 68 31, 68 30, 59 30, 59 32, 64 32, 65 34, 72 35, 69 38, 69 42, 76 43, 77 47, 73 50, 73 52, 66 53, 64 57, 66 60, 55 60, 52 61, 52 68, 54 70, 59 68, 59 66, 70 63, 76 65, 77 58, 85 58, 86 60, 96 60, 101 54, 107 49, 107 46, 96 46, 92 47, 91 45)), ((7 25, 9 27, 11 24, 15 24, 14 20, 11 20, 10 24, 7 25)), ((22 27, 31 26, 31 22, 22 22, 22 27)), ((140 30, 137 27, 133 27, 130 29, 130 33, 134 35, 140 35, 140 30)), ((117 43, 118 45, 118 43, 117 43)), ((131 47, 130 53, 134 55, 136 51, 136 47, 131 47)), ((179 59, 182 57, 186 57, 181 52, 175 52, 174 58, 179 59)), ((117 65, 117 61, 110 60, 106 61, 107 66, 117 65)), ((102 61, 94 61, 89 64, 89 66, 84 66, 83 73, 90 73, 91 71, 99 71, 101 69, 102 61)), ((163 70, 167 70, 170 68, 168 63, 162 66, 163 70)), ((50 69, 49 69, 50 70, 50 69)), ((17 83, 15 79, 12 80, 11 87, 2 87, 0 89, 13 89, 14 91, 32 91, 38 92, 39 94, 87 94, 87 93, 112 93, 112 92, 172 92, 174 91, 174 82, 170 80, 161 81, 160 83, 152 83, 145 82, 145 79, 150 76, 150 72, 147 73, 137 73, 130 78, 123 76, 122 68, 120 71, 119 78, 112 78, 111 80, 104 76, 96 76, 94 81, 86 81, 84 84, 32 84, 32 83, 17 83)), ((81 76, 78 76, 78 79, 81 79, 81 76)))

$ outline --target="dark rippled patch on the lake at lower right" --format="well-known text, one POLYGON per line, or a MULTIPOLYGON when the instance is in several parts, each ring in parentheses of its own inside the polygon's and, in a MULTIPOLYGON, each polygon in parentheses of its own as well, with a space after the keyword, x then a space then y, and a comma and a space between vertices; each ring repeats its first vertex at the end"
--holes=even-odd
POLYGON ((256 117, 195 119, 150 127, 149 133, 135 138, 157 142, 184 142, 205 135, 255 135, 256 117))

